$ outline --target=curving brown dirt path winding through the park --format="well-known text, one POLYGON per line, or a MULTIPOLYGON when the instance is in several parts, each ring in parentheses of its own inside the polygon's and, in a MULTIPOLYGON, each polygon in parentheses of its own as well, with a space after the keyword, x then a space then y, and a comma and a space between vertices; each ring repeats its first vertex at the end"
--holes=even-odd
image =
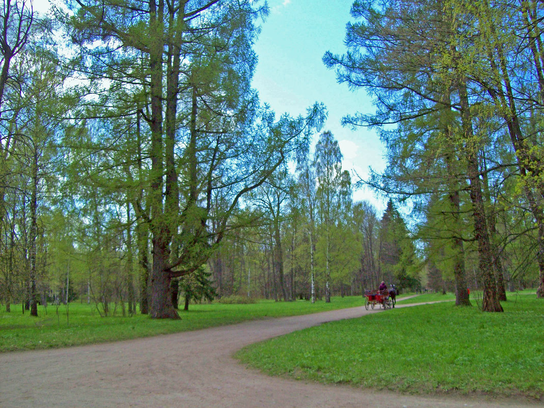
POLYGON ((250 343, 368 313, 380 311, 357 307, 117 343, 0 354, 0 407, 537 406, 270 378, 231 357, 250 343))

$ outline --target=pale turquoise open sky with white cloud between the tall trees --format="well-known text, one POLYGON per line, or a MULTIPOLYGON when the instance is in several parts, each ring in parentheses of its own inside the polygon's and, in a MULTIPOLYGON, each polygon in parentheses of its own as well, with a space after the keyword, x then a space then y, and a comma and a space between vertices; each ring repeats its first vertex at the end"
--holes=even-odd
MULTIPOLYGON (((262 22, 254 46, 259 62, 253 86, 261 102, 276 112, 305 114, 315 102, 323 102, 328 116, 323 131, 331 131, 343 154, 344 170, 356 171, 363 179, 369 166, 384 169, 384 147, 371 129, 355 131, 342 127, 344 115, 372 113, 372 100, 364 90, 349 90, 338 84, 334 70, 322 58, 326 51, 345 52, 345 26, 353 0, 268 0, 270 14, 262 22)), ((317 140, 318 135, 316 135, 317 140)), ((356 181, 352 175, 352 181, 356 181)), ((385 200, 368 188, 354 191, 354 200, 368 200, 384 211, 385 200)))

